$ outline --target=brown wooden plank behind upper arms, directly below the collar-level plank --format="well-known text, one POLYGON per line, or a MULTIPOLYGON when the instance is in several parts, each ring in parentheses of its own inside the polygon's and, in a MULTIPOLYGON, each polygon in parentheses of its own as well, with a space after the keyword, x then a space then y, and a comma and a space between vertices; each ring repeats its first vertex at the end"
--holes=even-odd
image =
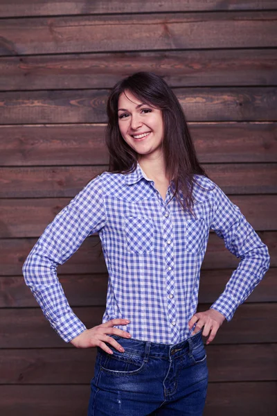
MULTIPOLYGON (((230 196, 230 199, 256 230, 277 231, 276 196, 244 195, 230 196)), ((0 200, 0 238, 39 236, 69 202, 68 198, 0 200)))

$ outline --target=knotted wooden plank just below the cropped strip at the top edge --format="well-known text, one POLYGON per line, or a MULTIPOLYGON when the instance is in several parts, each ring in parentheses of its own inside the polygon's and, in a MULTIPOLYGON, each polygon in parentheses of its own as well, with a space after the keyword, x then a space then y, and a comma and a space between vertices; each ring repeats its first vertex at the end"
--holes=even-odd
POLYGON ((276 16, 272 10, 4 19, 0 55, 274 47, 276 16))

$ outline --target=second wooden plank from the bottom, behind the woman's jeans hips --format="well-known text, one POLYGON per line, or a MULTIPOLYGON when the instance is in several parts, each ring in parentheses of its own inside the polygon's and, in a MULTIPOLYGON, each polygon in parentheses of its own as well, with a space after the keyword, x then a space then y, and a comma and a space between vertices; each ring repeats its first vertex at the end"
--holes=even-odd
MULTIPOLYGON (((277 379, 277 344, 209 345, 206 352, 210 383, 277 379)), ((0 384, 88 384, 95 359, 96 348, 1 349, 0 384)))

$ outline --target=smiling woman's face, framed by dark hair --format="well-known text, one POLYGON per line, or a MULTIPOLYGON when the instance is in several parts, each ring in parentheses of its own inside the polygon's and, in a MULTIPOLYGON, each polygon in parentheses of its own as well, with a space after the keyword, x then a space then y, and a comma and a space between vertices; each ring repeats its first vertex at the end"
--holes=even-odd
POLYGON ((125 91, 118 99, 118 126, 126 143, 143 157, 161 156, 162 112, 125 91))

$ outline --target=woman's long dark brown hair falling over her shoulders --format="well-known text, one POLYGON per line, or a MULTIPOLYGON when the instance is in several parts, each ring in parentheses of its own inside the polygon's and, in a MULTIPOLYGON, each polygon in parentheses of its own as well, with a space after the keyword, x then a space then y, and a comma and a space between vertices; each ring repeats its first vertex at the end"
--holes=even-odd
POLYGON ((177 97, 166 81, 155 73, 136 72, 118 81, 111 89, 107 101, 106 128, 109 172, 130 173, 136 168, 138 160, 138 155, 127 145, 118 127, 118 98, 125 91, 131 92, 143 103, 161 110, 166 172, 173 181, 174 196, 184 209, 193 211, 193 175, 207 175, 197 159, 186 118, 177 97))

